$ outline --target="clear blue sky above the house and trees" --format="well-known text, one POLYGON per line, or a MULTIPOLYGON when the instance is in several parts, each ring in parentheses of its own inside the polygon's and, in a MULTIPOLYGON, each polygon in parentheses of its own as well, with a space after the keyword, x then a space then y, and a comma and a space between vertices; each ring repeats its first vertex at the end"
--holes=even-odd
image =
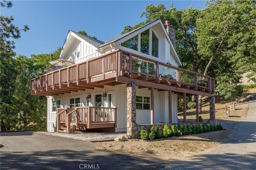
POLYGON ((140 14, 148 4, 173 5, 180 9, 204 7, 204 1, 12 1, 13 7, 1 8, 4 16, 12 15, 13 24, 29 31, 15 40, 19 55, 51 53, 62 47, 68 30, 85 30, 106 41, 121 34, 125 25, 134 25, 145 18, 140 14))

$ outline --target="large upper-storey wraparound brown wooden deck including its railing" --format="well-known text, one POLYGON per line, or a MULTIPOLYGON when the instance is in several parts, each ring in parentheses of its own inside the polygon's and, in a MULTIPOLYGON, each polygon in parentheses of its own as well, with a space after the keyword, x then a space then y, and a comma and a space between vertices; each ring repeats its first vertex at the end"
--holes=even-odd
POLYGON ((211 77, 119 49, 32 79, 30 92, 53 96, 131 82, 139 88, 186 92, 187 95, 212 96, 214 93, 211 77))

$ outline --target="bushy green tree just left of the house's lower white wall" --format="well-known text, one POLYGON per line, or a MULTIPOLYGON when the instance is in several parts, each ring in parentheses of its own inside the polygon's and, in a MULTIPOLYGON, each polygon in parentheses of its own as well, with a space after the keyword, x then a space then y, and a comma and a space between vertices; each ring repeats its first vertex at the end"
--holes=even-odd
POLYGON ((45 97, 30 95, 29 83, 32 78, 31 72, 23 67, 14 83, 12 103, 15 105, 14 113, 17 115, 17 130, 45 130, 45 97))

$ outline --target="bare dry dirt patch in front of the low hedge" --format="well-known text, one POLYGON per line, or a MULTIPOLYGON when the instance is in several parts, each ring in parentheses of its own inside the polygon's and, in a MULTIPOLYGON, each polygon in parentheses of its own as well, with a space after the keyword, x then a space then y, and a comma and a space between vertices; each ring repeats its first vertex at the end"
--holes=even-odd
POLYGON ((170 137, 163 140, 129 140, 97 142, 107 150, 127 155, 154 157, 159 159, 181 159, 202 154, 220 143, 230 134, 230 130, 220 130, 201 134, 170 137))

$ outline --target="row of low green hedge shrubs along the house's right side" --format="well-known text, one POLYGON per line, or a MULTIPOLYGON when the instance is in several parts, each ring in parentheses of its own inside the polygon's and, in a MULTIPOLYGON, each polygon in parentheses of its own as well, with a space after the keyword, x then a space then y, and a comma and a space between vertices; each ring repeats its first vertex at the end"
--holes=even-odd
POLYGON ((163 132, 160 131, 158 125, 156 126, 153 125, 147 131, 142 129, 140 131, 140 138, 142 140, 147 140, 147 139, 153 140, 153 139, 169 138, 174 136, 197 134, 197 133, 217 131, 217 130, 222 130, 221 124, 218 124, 218 125, 215 125, 215 124, 180 125, 178 124, 177 127, 175 127, 174 125, 171 125, 170 127, 168 124, 165 124, 163 128, 163 132))

